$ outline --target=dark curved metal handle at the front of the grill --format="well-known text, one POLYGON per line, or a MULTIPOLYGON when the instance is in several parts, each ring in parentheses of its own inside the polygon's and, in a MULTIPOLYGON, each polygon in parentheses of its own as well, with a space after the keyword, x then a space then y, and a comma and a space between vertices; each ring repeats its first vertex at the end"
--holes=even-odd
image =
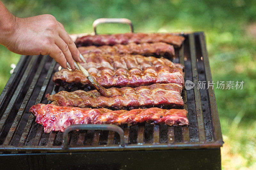
POLYGON ((124 147, 124 130, 117 125, 111 124, 75 124, 70 125, 63 133, 63 149, 68 149, 68 133, 72 130, 111 130, 117 132, 120 136, 120 145, 124 147))

